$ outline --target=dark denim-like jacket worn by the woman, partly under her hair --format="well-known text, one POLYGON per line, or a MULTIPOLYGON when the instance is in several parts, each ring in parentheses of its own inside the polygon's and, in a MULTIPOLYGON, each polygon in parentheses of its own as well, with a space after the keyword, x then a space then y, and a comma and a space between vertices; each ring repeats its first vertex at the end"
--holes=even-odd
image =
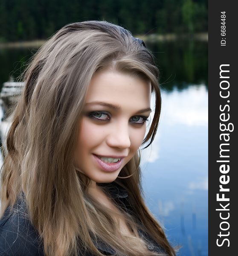
MULTIPOLYGON (((111 197, 127 212, 132 211, 128 205, 128 193, 124 188, 115 182, 100 183, 100 186, 106 186, 111 197)), ((14 208, 17 211, 9 215, 8 207, 0 219, 0 256, 44 256, 44 247, 39 239, 38 231, 27 218, 26 205, 22 200, 17 200, 14 208)), ((149 250, 164 252, 147 233, 142 232, 142 230, 138 230, 138 232, 147 241, 149 250)), ((115 253, 113 248, 100 240, 94 241, 94 244, 105 255, 115 253)), ((84 253, 80 253, 79 256, 93 256, 90 252, 84 253)))

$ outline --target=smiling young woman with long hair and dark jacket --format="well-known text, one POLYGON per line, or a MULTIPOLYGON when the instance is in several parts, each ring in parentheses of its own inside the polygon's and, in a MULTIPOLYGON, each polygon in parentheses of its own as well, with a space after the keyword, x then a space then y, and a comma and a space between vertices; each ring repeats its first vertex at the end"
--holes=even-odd
POLYGON ((174 256, 142 198, 139 147, 161 108, 144 42, 106 21, 71 23, 23 80, 1 170, 0 255, 174 256))

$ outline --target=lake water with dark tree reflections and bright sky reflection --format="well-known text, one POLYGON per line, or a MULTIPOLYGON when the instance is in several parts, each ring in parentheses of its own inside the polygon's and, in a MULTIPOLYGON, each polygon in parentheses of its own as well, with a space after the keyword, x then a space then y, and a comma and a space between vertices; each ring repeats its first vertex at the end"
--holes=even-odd
MULTIPOLYGON (((180 256, 208 255, 208 44, 146 46, 160 69, 162 111, 142 150, 145 201, 180 256)), ((0 49, 0 84, 17 77, 36 49, 0 49)), ((153 109, 153 97, 151 107, 153 109)))

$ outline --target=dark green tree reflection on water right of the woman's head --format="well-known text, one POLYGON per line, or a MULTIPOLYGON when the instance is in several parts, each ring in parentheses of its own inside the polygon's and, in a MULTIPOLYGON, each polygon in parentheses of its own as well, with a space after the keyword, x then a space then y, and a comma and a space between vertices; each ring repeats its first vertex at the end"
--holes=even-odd
POLYGON ((208 47, 201 41, 159 42, 146 46, 151 49, 160 68, 160 83, 172 91, 191 84, 208 86, 208 47))

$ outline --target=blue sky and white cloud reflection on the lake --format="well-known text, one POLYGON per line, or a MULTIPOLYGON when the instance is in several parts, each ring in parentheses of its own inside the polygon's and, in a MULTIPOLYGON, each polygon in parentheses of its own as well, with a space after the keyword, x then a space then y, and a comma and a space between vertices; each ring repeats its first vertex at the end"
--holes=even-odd
POLYGON ((145 200, 170 241, 182 246, 178 255, 206 256, 207 88, 204 84, 183 90, 174 86, 172 91, 162 90, 162 100, 157 135, 152 145, 142 150, 145 200))

